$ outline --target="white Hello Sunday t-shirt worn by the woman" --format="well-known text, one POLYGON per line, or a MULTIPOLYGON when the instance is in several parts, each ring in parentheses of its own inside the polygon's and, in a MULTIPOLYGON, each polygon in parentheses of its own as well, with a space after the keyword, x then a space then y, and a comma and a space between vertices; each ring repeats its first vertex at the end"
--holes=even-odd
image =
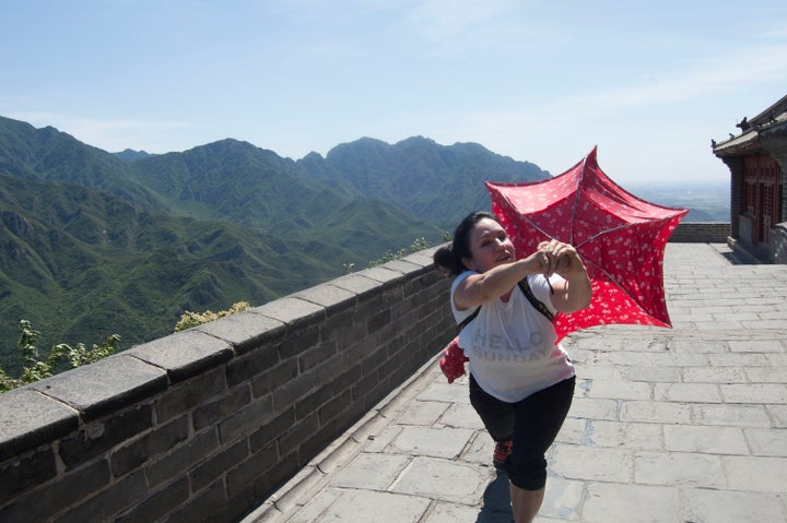
MULTIPOLYGON (((451 285, 451 311, 457 323, 474 308, 457 310, 454 293, 473 271, 466 271, 451 285)), ((560 276, 553 276, 560 278, 560 276)), ((530 288, 554 313, 547 278, 528 276, 530 288)), ((508 301, 484 304, 479 314, 459 334, 459 346, 470 359, 470 373, 494 397, 508 403, 552 387, 574 376, 574 366, 563 347, 555 345, 554 325, 528 301, 517 285, 508 301)))

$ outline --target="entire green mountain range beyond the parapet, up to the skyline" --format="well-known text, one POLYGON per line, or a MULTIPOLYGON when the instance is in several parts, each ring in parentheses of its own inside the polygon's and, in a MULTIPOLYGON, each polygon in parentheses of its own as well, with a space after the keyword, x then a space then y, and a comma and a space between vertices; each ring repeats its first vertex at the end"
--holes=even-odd
POLYGON ((432 243, 483 180, 549 175, 480 145, 362 139, 297 162, 237 140, 183 153, 110 154, 0 117, 0 366, 17 324, 39 347, 121 348, 172 332, 185 310, 252 306, 432 243))

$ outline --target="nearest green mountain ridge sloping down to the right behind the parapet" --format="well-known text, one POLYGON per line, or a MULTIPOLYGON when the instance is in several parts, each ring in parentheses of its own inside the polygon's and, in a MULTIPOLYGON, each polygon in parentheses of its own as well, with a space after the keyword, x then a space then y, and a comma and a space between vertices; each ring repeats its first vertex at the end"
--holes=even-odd
POLYGON ((14 367, 23 318, 42 331, 42 348, 96 343, 113 332, 127 347, 171 333, 185 310, 263 304, 336 277, 339 260, 365 262, 322 241, 151 214, 75 185, 0 175, 0 365, 7 369, 14 367))

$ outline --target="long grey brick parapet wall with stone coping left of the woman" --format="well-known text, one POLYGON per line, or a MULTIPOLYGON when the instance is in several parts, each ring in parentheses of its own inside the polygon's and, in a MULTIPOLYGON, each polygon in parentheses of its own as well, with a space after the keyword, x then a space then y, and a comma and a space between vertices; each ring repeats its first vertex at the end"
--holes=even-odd
POLYGON ((431 255, 0 395, 0 521, 236 521, 455 333, 431 255))

